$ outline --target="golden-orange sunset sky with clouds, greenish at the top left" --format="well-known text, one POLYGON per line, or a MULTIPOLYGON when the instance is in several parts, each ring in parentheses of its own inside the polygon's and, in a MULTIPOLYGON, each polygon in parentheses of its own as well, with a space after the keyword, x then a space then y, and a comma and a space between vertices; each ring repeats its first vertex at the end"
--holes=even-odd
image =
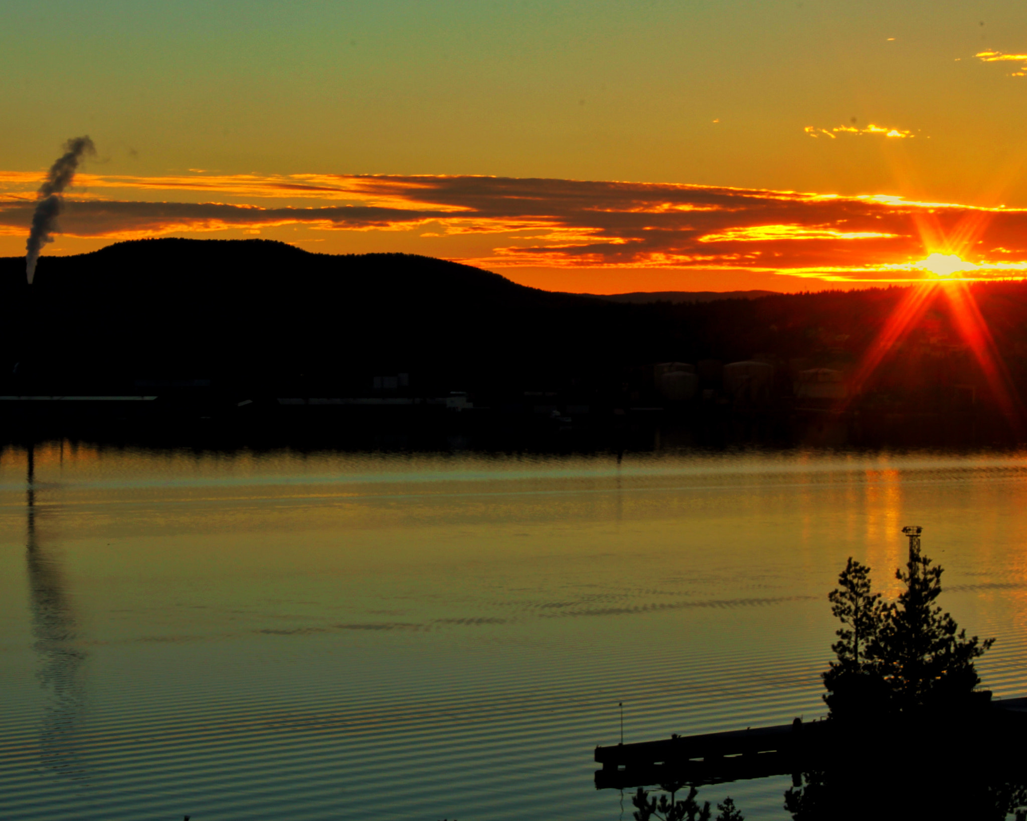
POLYGON ((260 235, 593 292, 866 286, 929 276, 930 253, 1027 267, 1023 3, 0 10, 3 256, 88 133, 44 255, 260 235))

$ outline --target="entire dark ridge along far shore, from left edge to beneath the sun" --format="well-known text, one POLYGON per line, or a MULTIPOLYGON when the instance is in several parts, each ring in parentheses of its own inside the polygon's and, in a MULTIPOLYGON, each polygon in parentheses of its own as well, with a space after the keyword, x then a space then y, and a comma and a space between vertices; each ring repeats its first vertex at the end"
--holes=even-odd
MULTIPOLYGON (((934 401, 933 386, 958 382, 985 396, 943 290, 869 391, 922 403, 934 401)), ((905 292, 620 304, 425 257, 310 253, 258 239, 137 240, 43 257, 31 287, 24 258, 0 259, 8 317, 0 390, 211 379, 265 394, 354 395, 375 375, 409 373, 418 392, 622 393, 631 384, 634 394, 646 373, 651 387, 653 362, 756 354, 777 362, 787 385, 789 367, 853 367, 905 292)), ((1027 283, 973 292, 1014 381, 1027 383, 1027 283)))

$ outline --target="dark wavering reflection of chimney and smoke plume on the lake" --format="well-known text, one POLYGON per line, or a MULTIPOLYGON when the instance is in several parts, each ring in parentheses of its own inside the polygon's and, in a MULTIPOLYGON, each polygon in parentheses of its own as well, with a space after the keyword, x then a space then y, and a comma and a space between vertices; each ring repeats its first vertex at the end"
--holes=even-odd
POLYGON ((37 529, 35 445, 29 444, 26 482, 26 563, 38 678, 46 693, 39 733, 40 760, 69 778, 85 775, 76 740, 84 706, 85 654, 61 566, 40 544, 37 529))

